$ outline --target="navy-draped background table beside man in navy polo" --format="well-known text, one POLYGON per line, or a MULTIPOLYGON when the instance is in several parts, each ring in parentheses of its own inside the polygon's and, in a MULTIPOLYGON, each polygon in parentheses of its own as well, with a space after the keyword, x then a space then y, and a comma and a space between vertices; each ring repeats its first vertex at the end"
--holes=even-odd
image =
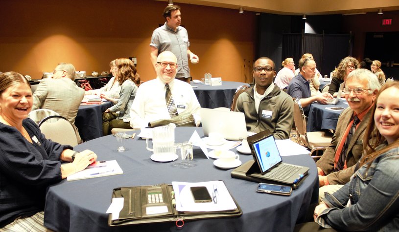
POLYGON ((349 105, 345 99, 340 99, 337 105, 324 105, 313 102, 310 105, 309 115, 307 119, 307 132, 321 131, 325 129, 335 130, 337 127, 338 117, 344 110, 330 110, 328 107, 347 108, 349 105))

